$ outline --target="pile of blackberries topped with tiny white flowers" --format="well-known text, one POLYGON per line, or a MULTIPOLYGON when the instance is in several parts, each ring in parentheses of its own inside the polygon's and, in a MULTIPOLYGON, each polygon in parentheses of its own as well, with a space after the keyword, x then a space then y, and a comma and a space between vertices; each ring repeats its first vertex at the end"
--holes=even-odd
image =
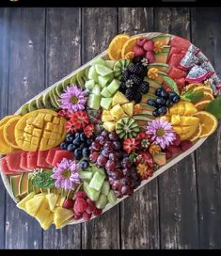
POLYGON ((139 103, 142 94, 149 91, 149 83, 144 81, 147 74, 148 61, 144 57, 136 56, 122 73, 119 90, 125 94, 129 101, 139 103))

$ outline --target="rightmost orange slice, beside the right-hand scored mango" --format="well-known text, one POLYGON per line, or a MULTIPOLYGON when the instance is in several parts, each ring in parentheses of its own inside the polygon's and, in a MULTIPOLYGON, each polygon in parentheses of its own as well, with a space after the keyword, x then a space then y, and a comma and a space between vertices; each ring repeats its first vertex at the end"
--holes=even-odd
POLYGON ((213 114, 206 111, 199 111, 195 114, 195 117, 199 119, 202 126, 202 131, 199 137, 210 136, 214 133, 218 126, 218 120, 216 120, 213 114))

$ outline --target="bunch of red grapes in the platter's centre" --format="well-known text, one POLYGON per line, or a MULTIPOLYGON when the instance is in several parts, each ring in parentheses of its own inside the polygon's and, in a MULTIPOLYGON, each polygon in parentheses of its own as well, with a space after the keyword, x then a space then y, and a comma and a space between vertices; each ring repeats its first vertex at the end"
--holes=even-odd
POLYGON ((115 132, 103 131, 90 146, 89 161, 105 168, 116 197, 132 195, 141 183, 128 154, 121 149, 115 132))

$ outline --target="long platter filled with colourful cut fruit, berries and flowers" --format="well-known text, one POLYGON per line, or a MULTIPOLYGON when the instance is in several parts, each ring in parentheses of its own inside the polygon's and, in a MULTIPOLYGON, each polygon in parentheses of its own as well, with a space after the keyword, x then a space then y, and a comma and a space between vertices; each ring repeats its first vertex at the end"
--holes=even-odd
POLYGON ((44 230, 101 216, 221 118, 220 79, 189 40, 119 34, 107 47, 0 120, 3 182, 44 230))

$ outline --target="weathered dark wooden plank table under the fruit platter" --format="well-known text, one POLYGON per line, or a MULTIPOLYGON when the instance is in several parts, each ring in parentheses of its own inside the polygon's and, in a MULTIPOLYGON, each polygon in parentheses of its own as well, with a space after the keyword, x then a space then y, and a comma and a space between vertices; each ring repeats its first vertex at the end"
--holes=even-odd
MULTIPOLYGON (((118 33, 192 40, 221 71, 221 8, 0 8, 0 115, 106 49, 118 33)), ((103 216, 42 232, 0 184, 0 248, 221 248, 220 126, 197 152, 103 216)))

